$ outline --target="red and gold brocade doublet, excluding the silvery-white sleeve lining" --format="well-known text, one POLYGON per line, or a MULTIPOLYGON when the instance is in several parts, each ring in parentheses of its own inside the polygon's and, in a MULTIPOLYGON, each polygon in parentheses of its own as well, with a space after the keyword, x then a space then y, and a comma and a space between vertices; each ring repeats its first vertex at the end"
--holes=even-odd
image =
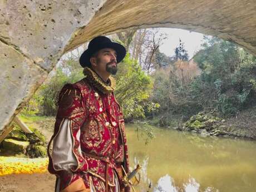
POLYGON ((114 191, 114 171, 120 173, 122 165, 129 172, 124 117, 114 93, 103 94, 83 78, 62 88, 58 105, 55 130, 48 145, 48 171, 61 179, 61 189, 82 178, 87 188, 92 184, 97 192, 105 191, 100 184, 104 182, 109 191, 114 191), (50 145, 65 119, 71 120, 72 151, 77 166, 56 170, 50 145))

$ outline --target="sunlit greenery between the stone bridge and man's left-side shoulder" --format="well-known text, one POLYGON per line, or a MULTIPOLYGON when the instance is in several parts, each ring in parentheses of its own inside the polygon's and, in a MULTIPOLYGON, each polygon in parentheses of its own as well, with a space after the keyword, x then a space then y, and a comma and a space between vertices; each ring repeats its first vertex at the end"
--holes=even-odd
POLYGON ((52 116, 57 112, 58 94, 66 83, 73 83, 83 78, 82 68, 73 58, 65 58, 53 70, 48 80, 37 90, 32 99, 22 110, 22 115, 52 116))

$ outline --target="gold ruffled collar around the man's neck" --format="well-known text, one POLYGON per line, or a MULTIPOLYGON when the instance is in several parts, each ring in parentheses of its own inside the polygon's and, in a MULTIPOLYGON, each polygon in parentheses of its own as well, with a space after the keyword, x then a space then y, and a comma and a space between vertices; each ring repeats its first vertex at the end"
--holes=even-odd
POLYGON ((97 88, 97 90, 101 91, 102 93, 107 94, 115 91, 116 81, 112 76, 109 77, 108 85, 99 75, 97 75, 96 72, 92 71, 88 67, 83 69, 83 74, 86 76, 85 78, 93 85, 93 87, 97 88))

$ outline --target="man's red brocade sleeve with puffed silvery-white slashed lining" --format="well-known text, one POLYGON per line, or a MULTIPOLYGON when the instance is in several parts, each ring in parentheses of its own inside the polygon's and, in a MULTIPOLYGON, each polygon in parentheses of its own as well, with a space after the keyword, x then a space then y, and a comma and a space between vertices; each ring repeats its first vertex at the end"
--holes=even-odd
POLYGON ((83 97, 78 87, 66 84, 58 98, 55 130, 48 144, 49 165, 52 174, 67 170, 87 172, 88 164, 81 154, 80 127, 86 120, 83 97), (52 152, 50 145, 53 141, 52 152))

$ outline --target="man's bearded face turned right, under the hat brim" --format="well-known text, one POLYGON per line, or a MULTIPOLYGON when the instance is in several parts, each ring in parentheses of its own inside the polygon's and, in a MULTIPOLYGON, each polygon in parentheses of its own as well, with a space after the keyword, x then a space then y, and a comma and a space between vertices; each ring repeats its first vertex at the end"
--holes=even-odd
POLYGON ((97 52, 96 56, 92 59, 92 68, 100 73, 110 73, 116 75, 116 51, 112 48, 104 48, 97 52))

